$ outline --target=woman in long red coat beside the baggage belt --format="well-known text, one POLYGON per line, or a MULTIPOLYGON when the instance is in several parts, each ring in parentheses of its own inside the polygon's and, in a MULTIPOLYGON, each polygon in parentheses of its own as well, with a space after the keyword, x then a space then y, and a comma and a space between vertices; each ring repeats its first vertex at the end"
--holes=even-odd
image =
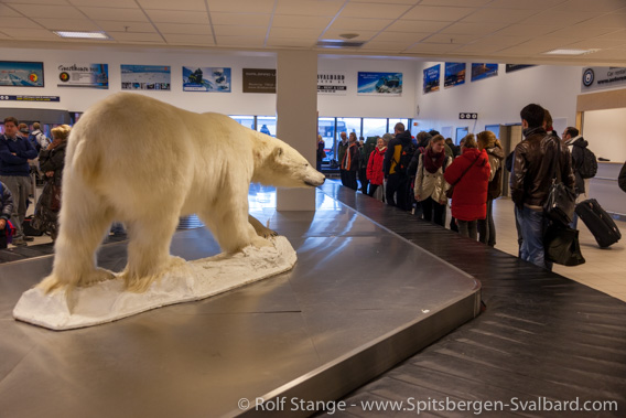
POLYGON ((454 185, 452 216, 456 218, 458 233, 477 239, 477 219, 487 216, 487 187, 489 183, 489 158, 485 150, 478 150, 473 135, 465 137, 463 153, 443 174, 454 185))

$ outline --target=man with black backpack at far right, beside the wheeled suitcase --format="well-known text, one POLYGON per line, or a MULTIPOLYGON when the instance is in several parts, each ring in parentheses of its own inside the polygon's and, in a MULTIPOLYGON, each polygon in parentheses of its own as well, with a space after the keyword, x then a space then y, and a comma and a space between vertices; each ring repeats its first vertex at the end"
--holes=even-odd
MULTIPOLYGON (((589 142, 580 135, 574 127, 568 127, 563 131, 563 143, 568 146, 572 156, 572 170, 574 171, 576 192, 576 204, 586 200, 586 187, 589 179, 595 176, 597 172, 597 159, 595 154, 587 148, 589 142)), ((576 229, 579 216, 574 212, 574 218, 570 226, 576 229)))

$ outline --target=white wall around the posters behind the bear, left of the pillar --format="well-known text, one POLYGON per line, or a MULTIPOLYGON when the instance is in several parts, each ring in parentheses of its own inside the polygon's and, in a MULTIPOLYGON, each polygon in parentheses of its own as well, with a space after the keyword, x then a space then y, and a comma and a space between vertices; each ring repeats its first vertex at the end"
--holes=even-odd
POLYGON ((193 111, 217 111, 227 115, 276 115, 274 94, 241 93, 242 68, 276 68, 273 54, 229 54, 207 51, 179 52, 169 50, 12 50, 0 49, 2 60, 42 61, 45 87, 0 87, 0 95, 60 96, 60 103, 2 101, 1 107, 65 109, 85 111, 104 97, 121 90, 121 64, 170 65, 170 92, 140 92, 193 111), (109 65, 109 89, 57 87, 60 64, 104 63, 109 65), (230 67, 233 93, 183 92, 182 66, 230 67))

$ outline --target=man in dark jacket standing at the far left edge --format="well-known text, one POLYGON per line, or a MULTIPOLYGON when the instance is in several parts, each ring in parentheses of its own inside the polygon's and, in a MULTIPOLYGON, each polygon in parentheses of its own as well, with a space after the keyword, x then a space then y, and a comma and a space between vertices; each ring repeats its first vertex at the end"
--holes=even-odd
POLYGON ((29 160, 37 157, 37 151, 26 138, 18 133, 18 119, 4 119, 4 135, 0 136, 0 181, 13 195, 11 223, 15 227, 13 245, 24 246, 22 222, 26 216, 26 202, 31 189, 29 160))

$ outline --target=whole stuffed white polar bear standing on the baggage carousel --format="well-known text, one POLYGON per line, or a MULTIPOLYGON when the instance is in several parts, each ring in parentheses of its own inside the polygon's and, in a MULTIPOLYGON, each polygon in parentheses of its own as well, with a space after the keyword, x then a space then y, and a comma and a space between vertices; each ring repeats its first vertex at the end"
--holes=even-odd
POLYGON ((197 214, 224 251, 267 246, 269 229, 248 218, 250 182, 307 187, 324 182, 295 149, 228 116, 195 114, 121 93, 83 115, 68 139, 60 233, 50 292, 114 277, 96 249, 111 222, 128 227, 126 288, 144 291, 182 259, 170 256, 179 217, 197 214))

